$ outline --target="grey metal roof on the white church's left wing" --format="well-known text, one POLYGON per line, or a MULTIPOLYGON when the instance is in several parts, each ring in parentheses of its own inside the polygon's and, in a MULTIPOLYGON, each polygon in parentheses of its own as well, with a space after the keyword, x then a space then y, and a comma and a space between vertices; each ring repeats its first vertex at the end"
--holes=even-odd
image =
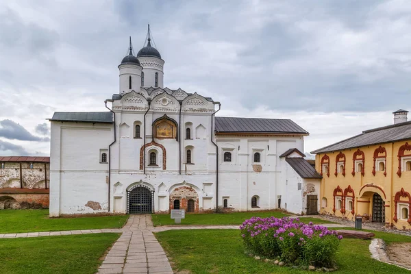
POLYGON ((113 123, 112 112, 54 112, 49 121, 113 123))

